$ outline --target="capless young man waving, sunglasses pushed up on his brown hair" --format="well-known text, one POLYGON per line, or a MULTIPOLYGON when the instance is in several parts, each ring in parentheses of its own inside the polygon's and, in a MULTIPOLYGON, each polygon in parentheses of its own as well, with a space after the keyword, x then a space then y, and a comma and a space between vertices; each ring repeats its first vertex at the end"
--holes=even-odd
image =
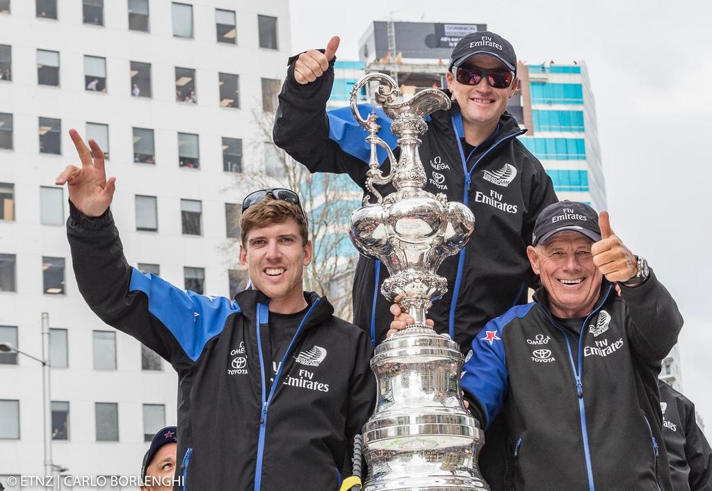
POLYGON ((110 326, 178 373, 179 490, 335 490, 375 405, 373 348, 361 329, 303 291, 313 257, 295 192, 260 190, 242 205, 239 262, 253 289, 199 295, 127 264, 109 205, 115 178, 75 130, 81 167, 67 234, 79 290, 110 326))

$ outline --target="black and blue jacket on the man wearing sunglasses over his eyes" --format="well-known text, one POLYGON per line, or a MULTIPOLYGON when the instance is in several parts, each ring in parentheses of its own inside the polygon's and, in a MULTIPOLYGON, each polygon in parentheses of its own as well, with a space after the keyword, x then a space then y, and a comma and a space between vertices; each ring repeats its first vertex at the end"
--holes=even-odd
MULTIPOLYGON (((299 85, 293 65, 279 95, 274 142, 311 172, 347 173, 365 188, 369 145, 350 108, 326 113, 333 85, 333 63, 317 81, 299 85)), ((371 106, 362 105, 362 115, 371 106)), ((377 110, 379 135, 394 148, 389 120, 377 110)), ((448 257, 438 273, 448 281, 448 292, 429 310, 435 329, 449 333, 466 351, 487 321, 511 306, 526 301, 533 273, 525 254, 539 212, 555 202, 550 177, 540 162, 516 137, 525 132, 505 113, 496 133, 464 154, 459 106, 440 110, 428 118, 428 131, 420 147, 430 192, 443 192, 448 200, 463 202, 475 215, 475 231, 460 254, 448 257)), ((396 157, 399 149, 395 149, 396 157)), ((384 154, 382 154, 384 155, 384 154)), ((384 175, 388 163, 382 165, 384 175)), ((393 187, 378 187, 387 194, 393 187)), ((389 328, 389 302, 379 293, 388 277, 378 261, 360 257, 353 284, 354 324, 365 329, 374 343, 389 328)))

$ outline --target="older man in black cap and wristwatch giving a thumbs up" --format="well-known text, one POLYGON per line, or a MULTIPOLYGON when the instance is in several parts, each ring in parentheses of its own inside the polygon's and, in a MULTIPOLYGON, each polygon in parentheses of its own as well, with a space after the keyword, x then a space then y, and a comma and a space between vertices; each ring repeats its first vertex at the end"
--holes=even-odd
POLYGON ((527 253, 543 288, 485 326, 462 377, 483 425, 506 419, 508 489, 670 490, 657 376, 675 301, 582 203, 545 208, 527 253))

